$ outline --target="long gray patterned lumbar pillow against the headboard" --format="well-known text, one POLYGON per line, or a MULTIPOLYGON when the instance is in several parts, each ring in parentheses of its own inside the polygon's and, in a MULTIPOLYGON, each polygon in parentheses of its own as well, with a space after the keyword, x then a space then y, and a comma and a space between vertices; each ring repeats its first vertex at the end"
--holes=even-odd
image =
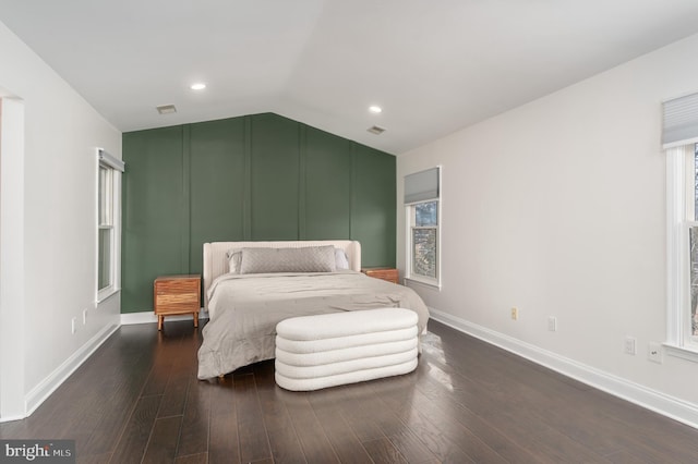
POLYGON ((334 272, 335 247, 242 248, 240 273, 334 272))

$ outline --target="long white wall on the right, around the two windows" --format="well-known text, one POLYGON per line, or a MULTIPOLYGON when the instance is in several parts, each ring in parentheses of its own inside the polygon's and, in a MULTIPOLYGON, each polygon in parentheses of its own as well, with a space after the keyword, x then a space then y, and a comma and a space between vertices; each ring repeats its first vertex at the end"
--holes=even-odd
POLYGON ((698 366, 647 350, 666 332, 661 102, 698 91, 696 50, 698 36, 397 160, 398 198, 404 175, 443 166, 443 289, 414 286, 438 318, 651 407, 681 404, 669 414, 689 423, 698 366))

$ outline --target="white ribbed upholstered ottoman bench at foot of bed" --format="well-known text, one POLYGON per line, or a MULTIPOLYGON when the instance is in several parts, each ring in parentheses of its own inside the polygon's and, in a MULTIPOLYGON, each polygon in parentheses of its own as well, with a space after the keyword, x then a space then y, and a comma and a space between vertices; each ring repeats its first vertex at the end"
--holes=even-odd
POLYGON ((317 390, 411 373, 417 313, 368 309, 293 317, 276 326, 276 383, 317 390))

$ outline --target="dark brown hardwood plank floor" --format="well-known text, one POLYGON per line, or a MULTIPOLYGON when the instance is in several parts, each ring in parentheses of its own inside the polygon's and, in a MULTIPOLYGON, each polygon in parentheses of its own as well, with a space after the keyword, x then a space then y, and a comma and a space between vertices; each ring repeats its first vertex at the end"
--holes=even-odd
POLYGON ((698 462, 698 430, 435 321, 414 373, 306 393, 273 362, 197 380, 200 330, 122 327, 0 438, 74 439, 79 463, 698 462))

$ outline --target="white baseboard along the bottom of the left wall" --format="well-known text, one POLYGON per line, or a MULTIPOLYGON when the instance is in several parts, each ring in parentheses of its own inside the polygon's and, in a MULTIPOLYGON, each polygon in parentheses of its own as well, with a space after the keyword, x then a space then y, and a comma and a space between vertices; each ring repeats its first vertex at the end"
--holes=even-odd
MULTIPOLYGON (((15 417, 15 419, 23 419, 32 415, 117 329, 119 329, 119 326, 116 325, 101 329, 87 343, 73 353, 72 356, 65 359, 63 364, 58 366, 47 378, 39 382, 39 384, 34 387, 24 396, 24 411, 26 411, 26 415, 24 417, 15 417)), ((11 418, 3 417, 3 420, 5 419, 11 420, 11 418)))

